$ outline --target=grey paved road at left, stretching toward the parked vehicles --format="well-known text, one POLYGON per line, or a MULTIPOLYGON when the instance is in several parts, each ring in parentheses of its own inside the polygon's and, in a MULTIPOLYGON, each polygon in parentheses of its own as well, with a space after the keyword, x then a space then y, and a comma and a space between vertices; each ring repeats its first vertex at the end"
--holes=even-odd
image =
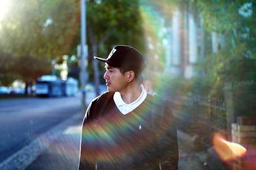
POLYGON ((79 111, 78 96, 0 101, 0 162, 79 111))

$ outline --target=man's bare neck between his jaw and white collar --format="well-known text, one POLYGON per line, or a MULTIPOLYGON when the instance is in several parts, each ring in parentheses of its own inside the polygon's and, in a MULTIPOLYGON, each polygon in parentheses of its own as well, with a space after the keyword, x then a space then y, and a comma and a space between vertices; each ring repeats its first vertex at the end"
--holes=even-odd
POLYGON ((121 97, 123 99, 123 101, 127 104, 130 104, 134 101, 136 101, 136 99, 138 99, 141 95, 141 86, 139 83, 131 83, 130 85, 127 86, 127 88, 125 90, 123 90, 122 92, 120 92, 121 97))

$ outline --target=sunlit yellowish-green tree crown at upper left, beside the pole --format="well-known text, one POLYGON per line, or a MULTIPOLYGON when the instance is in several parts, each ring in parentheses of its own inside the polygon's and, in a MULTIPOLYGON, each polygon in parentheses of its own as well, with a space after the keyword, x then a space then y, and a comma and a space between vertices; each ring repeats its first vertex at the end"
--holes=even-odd
POLYGON ((51 60, 70 50, 78 26, 78 0, 10 0, 0 22, 1 74, 13 73, 31 83, 49 73, 51 60))

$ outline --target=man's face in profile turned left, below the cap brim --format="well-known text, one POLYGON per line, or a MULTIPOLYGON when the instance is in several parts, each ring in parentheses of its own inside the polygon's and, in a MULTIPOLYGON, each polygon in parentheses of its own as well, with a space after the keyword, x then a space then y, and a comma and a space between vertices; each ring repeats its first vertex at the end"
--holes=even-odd
POLYGON ((128 85, 125 74, 122 74, 116 67, 108 66, 108 64, 106 64, 105 68, 106 73, 104 74, 104 79, 106 80, 108 91, 122 92, 122 90, 125 90, 128 85))

